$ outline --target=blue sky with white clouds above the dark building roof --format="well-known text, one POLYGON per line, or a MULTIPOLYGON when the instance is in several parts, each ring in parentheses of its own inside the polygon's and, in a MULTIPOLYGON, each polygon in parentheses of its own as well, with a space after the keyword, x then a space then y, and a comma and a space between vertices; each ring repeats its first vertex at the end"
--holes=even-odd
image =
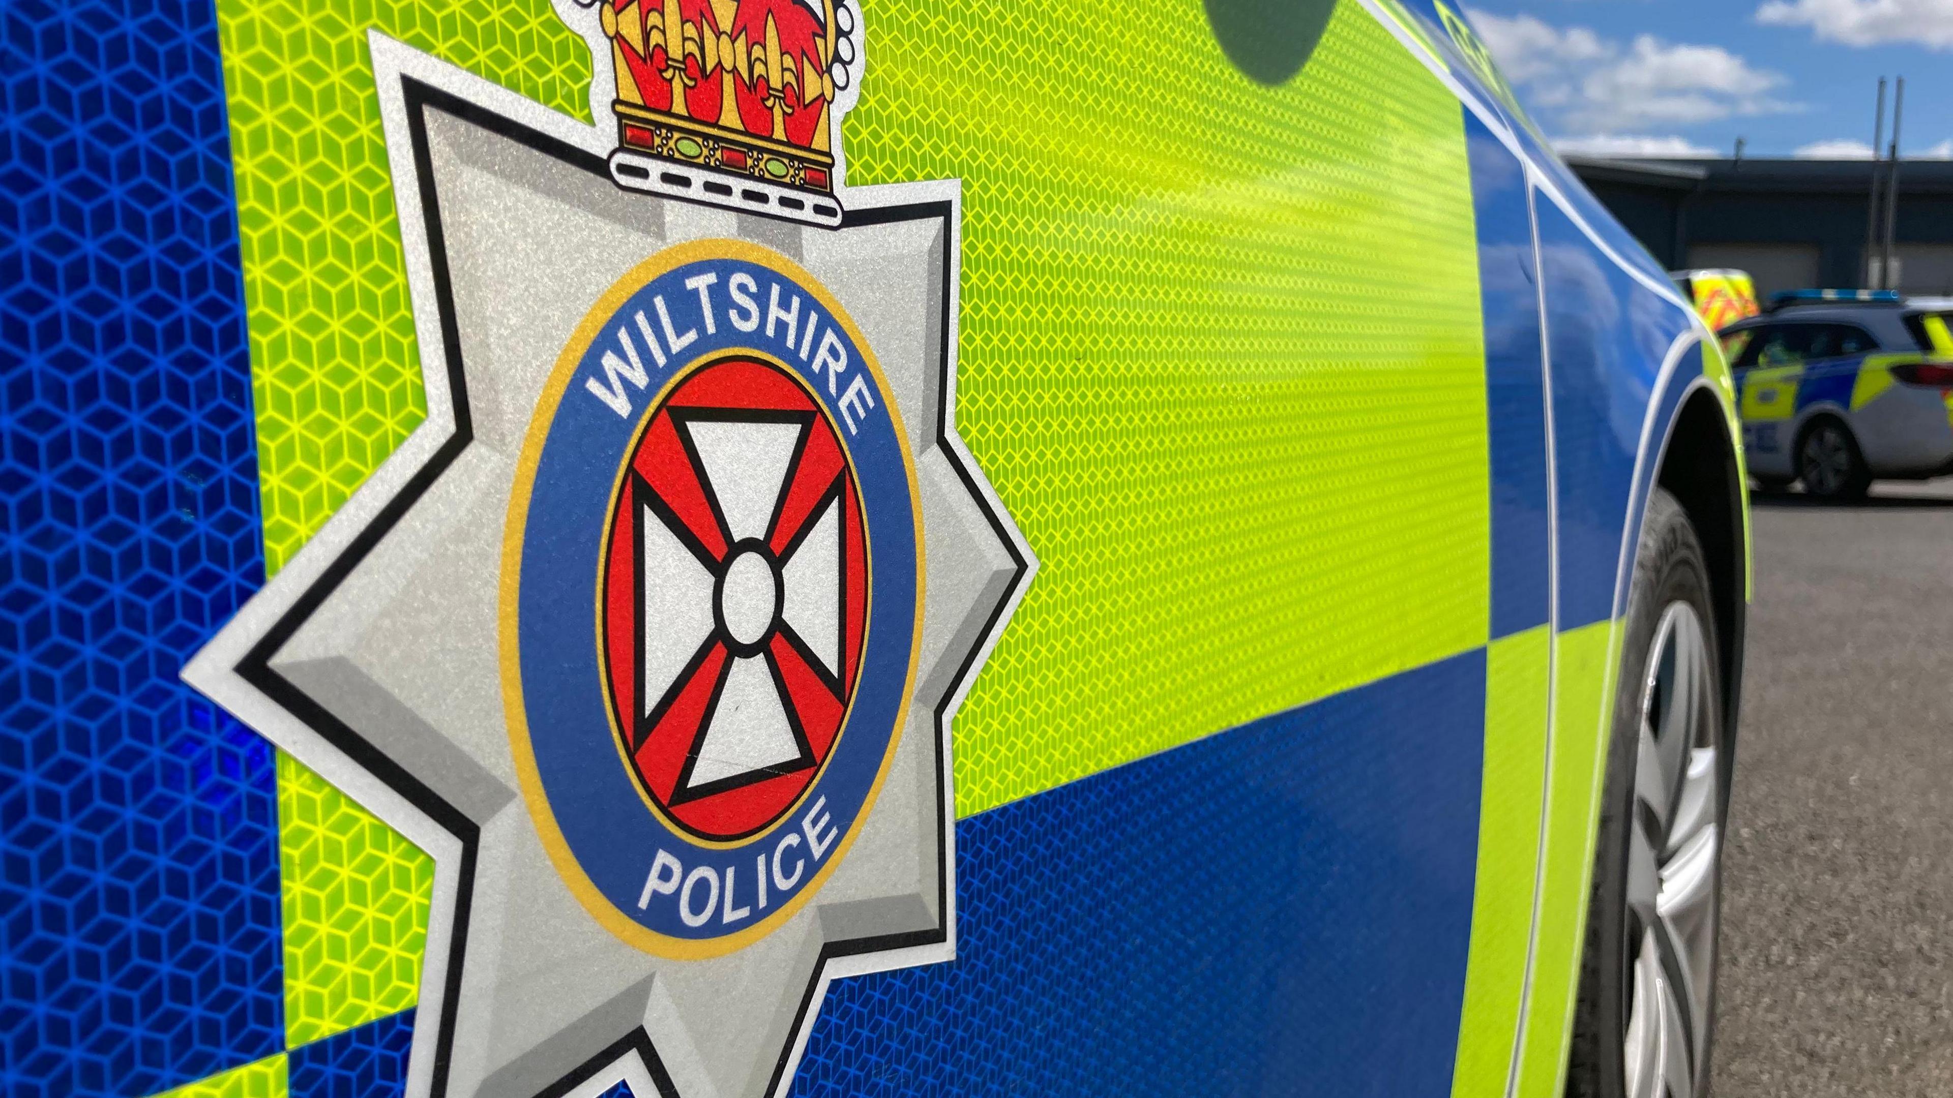
POLYGON ((1953 158, 1953 0, 1465 2, 1562 152, 1867 156, 1904 76, 1900 154, 1953 158))

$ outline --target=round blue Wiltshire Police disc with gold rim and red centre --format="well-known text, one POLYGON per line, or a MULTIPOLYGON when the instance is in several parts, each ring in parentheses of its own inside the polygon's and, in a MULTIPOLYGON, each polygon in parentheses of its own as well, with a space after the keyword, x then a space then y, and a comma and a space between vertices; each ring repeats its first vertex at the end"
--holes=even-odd
POLYGON ((750 244, 672 248, 578 338, 512 512, 516 762, 586 905, 652 950, 746 940, 842 856, 900 733, 908 445, 832 297, 750 244))

